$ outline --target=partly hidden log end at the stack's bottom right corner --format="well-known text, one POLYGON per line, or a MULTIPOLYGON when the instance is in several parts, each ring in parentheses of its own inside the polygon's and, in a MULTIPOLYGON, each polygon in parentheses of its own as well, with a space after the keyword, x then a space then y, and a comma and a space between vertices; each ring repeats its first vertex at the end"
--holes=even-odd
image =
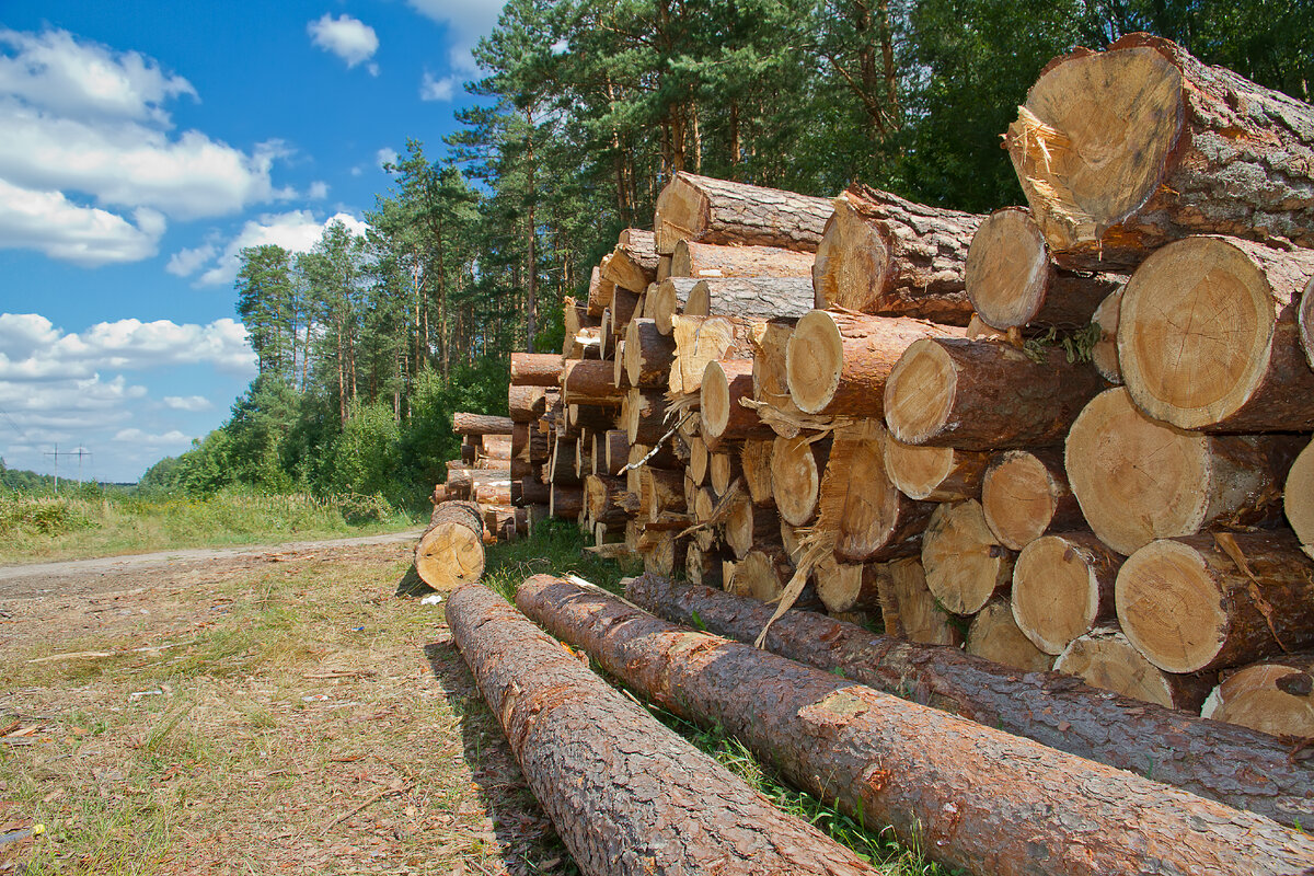
POLYGON ((1201 714, 1272 735, 1314 737, 1314 653, 1284 654, 1227 674, 1201 714))

